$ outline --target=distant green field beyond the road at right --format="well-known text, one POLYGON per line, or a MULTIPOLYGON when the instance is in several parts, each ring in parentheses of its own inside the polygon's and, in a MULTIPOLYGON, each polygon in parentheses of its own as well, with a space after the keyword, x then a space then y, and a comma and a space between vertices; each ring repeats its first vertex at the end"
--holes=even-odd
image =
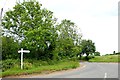
MULTIPOLYGON (((120 56, 120 55, 119 55, 120 56)), ((118 55, 95 56, 89 62, 120 62, 118 55)))

